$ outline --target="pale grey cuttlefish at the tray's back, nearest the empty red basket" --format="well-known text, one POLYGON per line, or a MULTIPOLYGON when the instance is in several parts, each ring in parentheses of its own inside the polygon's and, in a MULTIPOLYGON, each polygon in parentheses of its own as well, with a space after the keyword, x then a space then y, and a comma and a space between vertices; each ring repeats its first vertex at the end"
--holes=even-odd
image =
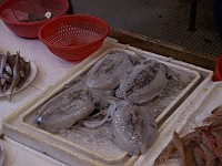
POLYGON ((119 86, 122 75, 132 70, 132 59, 122 52, 107 54, 88 72, 87 86, 105 91, 114 90, 119 86))

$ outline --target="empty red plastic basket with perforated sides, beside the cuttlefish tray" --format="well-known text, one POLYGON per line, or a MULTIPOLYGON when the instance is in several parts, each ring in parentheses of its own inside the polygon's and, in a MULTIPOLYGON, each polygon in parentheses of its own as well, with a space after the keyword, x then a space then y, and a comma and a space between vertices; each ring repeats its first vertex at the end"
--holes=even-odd
POLYGON ((109 33, 103 20, 88 14, 71 14, 42 25, 39 39, 59 58, 81 61, 99 50, 109 33))

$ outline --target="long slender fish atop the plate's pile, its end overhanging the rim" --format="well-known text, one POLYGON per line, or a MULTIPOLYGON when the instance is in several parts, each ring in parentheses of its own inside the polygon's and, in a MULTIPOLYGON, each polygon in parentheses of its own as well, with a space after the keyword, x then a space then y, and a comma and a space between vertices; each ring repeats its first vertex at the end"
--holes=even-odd
POLYGON ((20 61, 20 52, 17 52, 16 63, 13 65, 12 82, 11 82, 11 86, 9 89, 9 94, 8 94, 9 101, 11 100, 11 94, 13 92, 13 89, 17 86, 17 84, 19 83, 21 79, 19 61, 20 61))

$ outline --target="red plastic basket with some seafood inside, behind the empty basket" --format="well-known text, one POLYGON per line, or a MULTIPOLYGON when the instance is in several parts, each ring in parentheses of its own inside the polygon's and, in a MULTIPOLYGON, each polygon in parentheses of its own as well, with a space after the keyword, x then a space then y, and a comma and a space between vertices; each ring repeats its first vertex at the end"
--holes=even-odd
POLYGON ((68 0, 7 0, 0 6, 0 18, 17 35, 38 38, 39 29, 49 20, 23 22, 30 14, 44 15, 50 11, 52 18, 64 15, 69 10, 68 0))

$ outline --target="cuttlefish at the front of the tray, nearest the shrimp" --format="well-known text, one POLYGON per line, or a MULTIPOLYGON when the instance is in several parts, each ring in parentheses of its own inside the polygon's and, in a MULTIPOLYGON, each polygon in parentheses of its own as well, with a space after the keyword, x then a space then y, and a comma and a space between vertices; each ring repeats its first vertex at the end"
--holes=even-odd
POLYGON ((128 102, 117 104, 112 125, 118 145, 131 156, 147 153, 159 136, 149 110, 128 102))

